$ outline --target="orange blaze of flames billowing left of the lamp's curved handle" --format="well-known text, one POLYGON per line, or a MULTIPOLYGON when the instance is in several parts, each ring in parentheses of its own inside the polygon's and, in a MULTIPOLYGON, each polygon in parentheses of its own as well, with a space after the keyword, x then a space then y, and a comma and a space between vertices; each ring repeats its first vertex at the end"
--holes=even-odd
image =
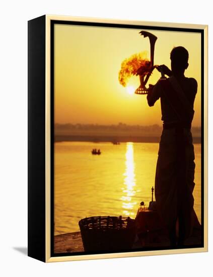
POLYGON ((147 74, 150 70, 150 62, 147 58, 147 51, 136 53, 126 58, 121 63, 119 71, 119 83, 125 87, 128 79, 133 75, 147 74))

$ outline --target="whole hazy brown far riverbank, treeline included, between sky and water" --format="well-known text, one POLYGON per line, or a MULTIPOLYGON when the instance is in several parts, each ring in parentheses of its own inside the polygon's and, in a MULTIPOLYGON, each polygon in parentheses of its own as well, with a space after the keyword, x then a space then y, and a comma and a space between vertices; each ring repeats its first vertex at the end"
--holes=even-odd
MULTIPOLYGON (((55 124, 55 142, 148 142, 158 143, 162 126, 158 124, 127 125, 124 123, 101 124, 55 124)), ((193 142, 200 143, 200 127, 192 128, 193 142)))

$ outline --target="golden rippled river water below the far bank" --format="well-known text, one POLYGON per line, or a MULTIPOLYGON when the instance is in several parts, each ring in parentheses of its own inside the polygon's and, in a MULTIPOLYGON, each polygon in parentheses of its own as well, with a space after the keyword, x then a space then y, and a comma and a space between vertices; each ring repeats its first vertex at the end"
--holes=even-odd
MULTIPOLYGON (((155 183, 158 144, 55 143, 55 235, 79 231, 90 216, 135 218, 139 203, 149 206, 155 183), (92 155, 92 149, 101 155, 92 155)), ((195 150, 194 210, 200 221, 200 151, 195 150)), ((155 199, 154 199, 155 200, 155 199)))

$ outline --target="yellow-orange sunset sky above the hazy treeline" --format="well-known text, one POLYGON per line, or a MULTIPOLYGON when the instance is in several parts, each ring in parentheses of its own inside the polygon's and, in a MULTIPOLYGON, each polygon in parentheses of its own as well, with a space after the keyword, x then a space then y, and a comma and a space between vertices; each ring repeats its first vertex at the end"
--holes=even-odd
MULTIPOLYGON (((151 125, 162 124, 160 101, 149 107, 146 96, 130 95, 118 81, 121 62, 134 53, 148 51, 142 29, 121 29, 55 24, 55 122, 151 125)), ((155 64, 170 67, 175 46, 189 51, 186 77, 197 80, 193 125, 200 125, 201 35, 199 33, 148 30, 158 37, 155 64)), ((148 83, 155 84, 155 71, 148 83)), ((135 89, 139 78, 129 84, 135 89)))

